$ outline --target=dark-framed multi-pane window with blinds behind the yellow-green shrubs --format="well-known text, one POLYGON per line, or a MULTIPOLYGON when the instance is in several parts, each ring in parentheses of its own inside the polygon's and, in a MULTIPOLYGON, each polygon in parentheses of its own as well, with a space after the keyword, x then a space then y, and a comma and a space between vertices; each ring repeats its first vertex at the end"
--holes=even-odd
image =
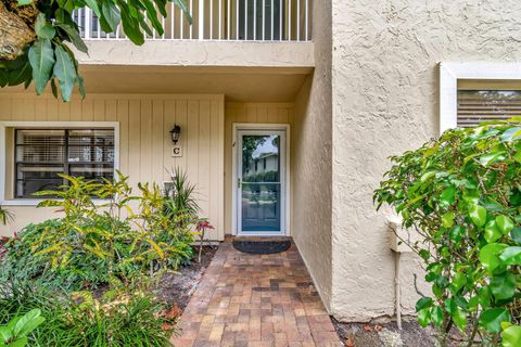
POLYGON ((114 129, 15 129, 15 196, 31 197, 66 183, 114 175, 114 129))

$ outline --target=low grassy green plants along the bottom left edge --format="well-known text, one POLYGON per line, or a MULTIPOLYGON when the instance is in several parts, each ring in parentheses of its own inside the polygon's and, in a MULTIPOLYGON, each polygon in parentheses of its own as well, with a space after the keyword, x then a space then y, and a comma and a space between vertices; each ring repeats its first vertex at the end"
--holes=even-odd
POLYGON ((47 319, 28 336, 30 346, 170 346, 176 332, 164 305, 122 287, 94 298, 90 292, 69 295, 21 280, 0 284, 0 324, 41 308, 47 319))

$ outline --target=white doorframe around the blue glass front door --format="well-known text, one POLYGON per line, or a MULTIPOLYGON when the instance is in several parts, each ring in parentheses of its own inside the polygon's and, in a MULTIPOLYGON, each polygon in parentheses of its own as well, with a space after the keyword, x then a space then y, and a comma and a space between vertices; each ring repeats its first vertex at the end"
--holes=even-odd
POLYGON ((232 152, 232 159, 231 159, 231 233, 232 235, 238 235, 238 189, 237 189, 237 179, 238 179, 238 149, 237 149, 237 141, 238 141, 238 133, 239 130, 274 130, 274 131, 284 131, 285 132, 285 172, 284 172, 284 191, 285 191, 285 204, 284 204, 284 230, 283 232, 278 233, 255 233, 249 232, 247 234, 251 236, 281 236, 291 235, 291 168, 290 168, 290 153, 291 153, 291 134, 290 130, 291 127, 289 124, 257 124, 257 123, 233 123, 232 124, 232 140, 231 140, 231 152, 232 152))

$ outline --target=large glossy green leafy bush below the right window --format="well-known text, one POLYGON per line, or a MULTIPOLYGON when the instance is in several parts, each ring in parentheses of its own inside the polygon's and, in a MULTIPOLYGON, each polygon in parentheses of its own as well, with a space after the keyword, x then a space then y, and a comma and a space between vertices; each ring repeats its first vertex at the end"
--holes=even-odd
POLYGON ((374 200, 423 239, 408 243, 432 283, 420 324, 433 323, 442 345, 455 324, 468 346, 478 335, 520 346, 521 123, 448 130, 391 159, 374 200))

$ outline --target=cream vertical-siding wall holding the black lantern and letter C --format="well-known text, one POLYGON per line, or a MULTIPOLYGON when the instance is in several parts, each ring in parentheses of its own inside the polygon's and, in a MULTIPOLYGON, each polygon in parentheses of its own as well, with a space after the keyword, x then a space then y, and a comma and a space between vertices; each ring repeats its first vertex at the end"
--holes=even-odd
MULTIPOLYGON (((56 101, 34 92, 0 94, 0 121, 117 121, 119 124, 119 169, 130 182, 168 180, 167 170, 186 169, 196 184, 202 217, 209 218, 223 240, 224 230, 224 95, 118 95, 88 94, 84 101, 56 101), (182 157, 171 157, 169 130, 181 127, 182 157)), ((3 139, 0 139, 3 141, 3 139)), ((34 206, 7 206, 15 221, 0 228, 10 234, 25 224, 55 216, 34 206)))

